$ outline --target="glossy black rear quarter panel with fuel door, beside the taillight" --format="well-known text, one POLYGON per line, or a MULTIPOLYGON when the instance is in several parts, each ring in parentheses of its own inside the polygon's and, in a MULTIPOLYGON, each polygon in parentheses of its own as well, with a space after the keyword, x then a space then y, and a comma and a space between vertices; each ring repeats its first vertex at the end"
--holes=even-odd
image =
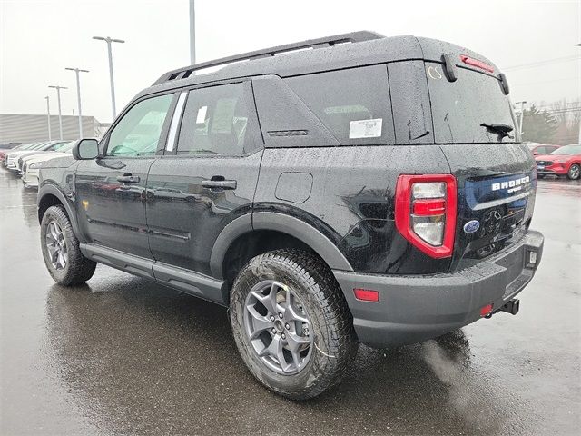
POLYGON ((266 149, 254 212, 285 213, 309 223, 340 248, 356 272, 447 271, 449 259, 420 253, 395 228, 401 173, 449 173, 449 166, 438 145, 266 149), (310 177, 308 193, 304 183, 292 185, 310 177))

